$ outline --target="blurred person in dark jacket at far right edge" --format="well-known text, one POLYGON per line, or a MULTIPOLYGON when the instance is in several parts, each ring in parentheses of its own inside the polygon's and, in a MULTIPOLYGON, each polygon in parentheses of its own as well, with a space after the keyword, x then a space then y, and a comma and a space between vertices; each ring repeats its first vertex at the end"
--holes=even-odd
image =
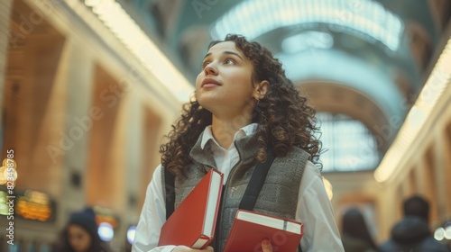
POLYGON ((433 238, 428 227, 429 203, 414 195, 403 202, 404 218, 391 229, 391 238, 384 242, 382 252, 448 252, 445 244, 433 238))

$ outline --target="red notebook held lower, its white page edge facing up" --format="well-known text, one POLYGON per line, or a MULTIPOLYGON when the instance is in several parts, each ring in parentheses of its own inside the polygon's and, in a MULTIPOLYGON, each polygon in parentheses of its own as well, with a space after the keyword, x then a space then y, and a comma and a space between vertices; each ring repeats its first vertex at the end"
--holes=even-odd
POLYGON ((271 240, 272 251, 294 252, 304 234, 296 220, 238 210, 224 252, 262 251, 262 240, 271 240))

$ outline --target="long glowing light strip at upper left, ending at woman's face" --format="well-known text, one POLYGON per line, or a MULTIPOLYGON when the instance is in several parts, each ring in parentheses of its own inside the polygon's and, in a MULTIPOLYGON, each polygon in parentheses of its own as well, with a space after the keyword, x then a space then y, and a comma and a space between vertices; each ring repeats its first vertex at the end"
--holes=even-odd
POLYGON ((152 75, 161 80, 162 85, 175 95, 180 102, 189 101, 189 94, 194 92, 193 85, 181 75, 170 60, 149 39, 147 34, 114 0, 85 0, 85 4, 92 8, 106 27, 115 37, 124 43, 131 54, 138 58, 152 75))

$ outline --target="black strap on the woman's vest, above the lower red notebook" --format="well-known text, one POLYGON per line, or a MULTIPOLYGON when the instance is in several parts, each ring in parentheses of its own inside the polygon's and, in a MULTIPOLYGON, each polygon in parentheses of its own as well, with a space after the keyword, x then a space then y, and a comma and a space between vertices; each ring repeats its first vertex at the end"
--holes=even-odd
POLYGON ((274 161, 274 154, 272 149, 268 148, 266 150, 266 161, 264 163, 257 163, 257 166, 253 169, 253 175, 249 184, 247 184, 246 191, 244 192, 243 198, 241 199, 239 209, 253 211, 253 206, 257 201, 258 194, 262 190, 264 179, 268 175, 268 171, 274 161))

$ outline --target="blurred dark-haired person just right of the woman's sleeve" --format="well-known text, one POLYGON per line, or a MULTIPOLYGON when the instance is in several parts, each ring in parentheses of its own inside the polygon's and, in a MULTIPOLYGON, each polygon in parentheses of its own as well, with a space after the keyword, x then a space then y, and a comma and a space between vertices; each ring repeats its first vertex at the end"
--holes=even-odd
POLYGON ((364 215, 352 208, 343 215, 342 242, 346 252, 378 251, 370 235, 364 215))

